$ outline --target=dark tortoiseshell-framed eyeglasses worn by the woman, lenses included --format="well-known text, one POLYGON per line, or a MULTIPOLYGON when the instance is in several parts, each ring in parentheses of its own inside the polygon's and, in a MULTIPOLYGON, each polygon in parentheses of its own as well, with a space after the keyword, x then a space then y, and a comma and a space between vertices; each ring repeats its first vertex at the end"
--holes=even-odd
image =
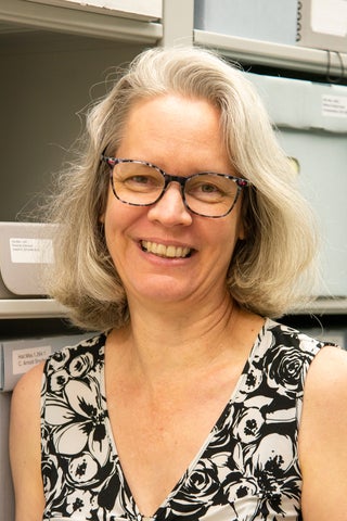
POLYGON ((120 160, 101 155, 111 168, 115 196, 125 204, 151 206, 171 182, 181 186, 187 208, 203 217, 224 217, 234 207, 241 190, 250 185, 246 179, 228 174, 202 171, 189 177, 171 176, 146 161, 120 160))

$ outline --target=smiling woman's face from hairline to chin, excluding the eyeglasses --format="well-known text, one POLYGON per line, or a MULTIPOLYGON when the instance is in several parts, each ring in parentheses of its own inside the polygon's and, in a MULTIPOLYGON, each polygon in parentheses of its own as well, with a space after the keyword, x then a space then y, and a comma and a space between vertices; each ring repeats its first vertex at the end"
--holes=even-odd
MULTIPOLYGON (((207 101, 174 94, 132 107, 115 156, 146 161, 176 176, 234 174, 219 111, 207 101)), ((129 302, 192 305, 223 297, 230 259, 244 234, 241 204, 239 198, 229 215, 213 219, 184 206, 177 182, 151 206, 124 204, 110 188, 101 220, 129 302)))

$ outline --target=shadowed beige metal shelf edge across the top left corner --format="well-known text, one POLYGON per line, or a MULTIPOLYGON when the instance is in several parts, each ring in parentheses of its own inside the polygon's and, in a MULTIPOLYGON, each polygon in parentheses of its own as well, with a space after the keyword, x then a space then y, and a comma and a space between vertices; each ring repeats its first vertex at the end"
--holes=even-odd
POLYGON ((163 37, 163 25, 156 22, 110 16, 77 9, 31 3, 23 0, 1 0, 1 25, 5 31, 49 29, 110 39, 114 41, 131 41, 156 43, 163 37))

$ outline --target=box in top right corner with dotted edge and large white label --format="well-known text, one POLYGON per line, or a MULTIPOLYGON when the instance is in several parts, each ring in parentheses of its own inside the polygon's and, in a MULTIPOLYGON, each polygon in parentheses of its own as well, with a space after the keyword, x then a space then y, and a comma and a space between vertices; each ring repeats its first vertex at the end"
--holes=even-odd
POLYGON ((297 45, 347 53, 347 1, 300 0, 297 45))

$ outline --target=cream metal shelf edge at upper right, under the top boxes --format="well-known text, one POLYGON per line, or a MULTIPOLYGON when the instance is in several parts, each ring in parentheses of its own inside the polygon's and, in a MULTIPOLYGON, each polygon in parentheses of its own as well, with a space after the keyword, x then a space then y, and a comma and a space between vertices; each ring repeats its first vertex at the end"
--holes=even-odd
POLYGON ((347 71, 347 54, 299 46, 253 40, 194 29, 194 43, 214 49, 242 63, 305 71, 340 77, 347 71), (330 65, 329 65, 330 61, 330 65))

